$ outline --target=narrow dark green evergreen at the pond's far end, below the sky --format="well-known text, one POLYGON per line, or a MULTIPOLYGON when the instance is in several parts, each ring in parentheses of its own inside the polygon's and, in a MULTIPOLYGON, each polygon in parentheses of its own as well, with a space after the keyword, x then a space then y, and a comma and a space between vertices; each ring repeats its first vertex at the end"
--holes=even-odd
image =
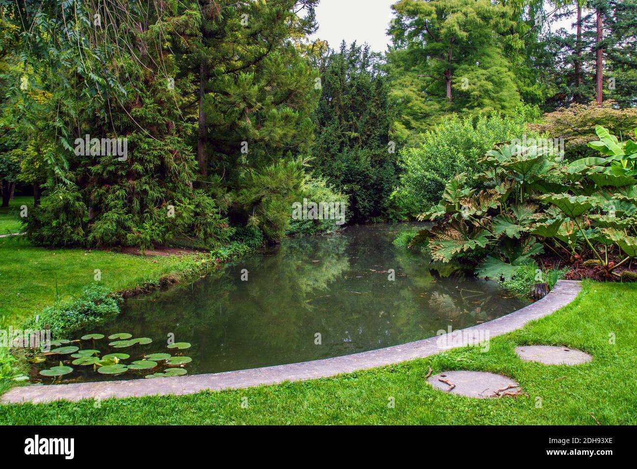
POLYGON ((345 42, 315 60, 322 94, 315 113, 315 172, 350 197, 352 221, 382 218, 396 179, 396 148, 389 140, 387 77, 367 45, 345 42))

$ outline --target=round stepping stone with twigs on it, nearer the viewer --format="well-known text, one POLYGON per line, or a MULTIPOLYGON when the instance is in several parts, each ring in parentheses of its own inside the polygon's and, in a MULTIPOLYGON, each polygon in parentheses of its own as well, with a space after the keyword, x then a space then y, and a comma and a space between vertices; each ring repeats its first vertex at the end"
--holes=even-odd
POLYGON ((520 385, 511 378, 484 371, 445 371, 429 376, 427 383, 449 394, 479 399, 497 398, 503 392, 520 392, 520 385))

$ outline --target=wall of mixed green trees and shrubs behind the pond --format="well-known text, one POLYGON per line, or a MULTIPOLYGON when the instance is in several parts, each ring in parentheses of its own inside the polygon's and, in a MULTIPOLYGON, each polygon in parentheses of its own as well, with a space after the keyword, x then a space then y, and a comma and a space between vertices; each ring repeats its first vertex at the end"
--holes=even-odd
POLYGON ((458 174, 479 193, 500 142, 561 139, 563 184, 596 126, 637 126, 635 0, 398 0, 385 53, 311 41, 318 4, 0 0, 3 205, 32 186, 43 246, 235 253, 413 219, 458 174))

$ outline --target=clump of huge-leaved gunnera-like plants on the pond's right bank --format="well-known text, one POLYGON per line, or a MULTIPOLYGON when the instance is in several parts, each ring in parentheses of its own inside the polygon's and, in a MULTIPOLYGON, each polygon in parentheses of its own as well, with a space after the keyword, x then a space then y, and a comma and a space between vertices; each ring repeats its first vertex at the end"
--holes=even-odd
POLYGON ((433 260, 469 260, 487 278, 511 278, 545 249, 620 277, 617 269, 637 256, 637 144, 596 132, 589 145, 601 156, 568 165, 540 147, 496 145, 483 158, 481 184, 457 175, 420 215, 436 223, 415 239, 426 239, 433 260))

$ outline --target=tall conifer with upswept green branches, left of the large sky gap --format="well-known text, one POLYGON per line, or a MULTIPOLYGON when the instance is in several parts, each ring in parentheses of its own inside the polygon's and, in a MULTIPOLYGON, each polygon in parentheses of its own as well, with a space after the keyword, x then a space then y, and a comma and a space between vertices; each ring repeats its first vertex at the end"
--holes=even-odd
POLYGON ((171 19, 180 77, 198 91, 201 184, 234 222, 275 241, 289 224, 313 142, 320 87, 297 45, 315 29, 316 3, 199 0, 171 19))

